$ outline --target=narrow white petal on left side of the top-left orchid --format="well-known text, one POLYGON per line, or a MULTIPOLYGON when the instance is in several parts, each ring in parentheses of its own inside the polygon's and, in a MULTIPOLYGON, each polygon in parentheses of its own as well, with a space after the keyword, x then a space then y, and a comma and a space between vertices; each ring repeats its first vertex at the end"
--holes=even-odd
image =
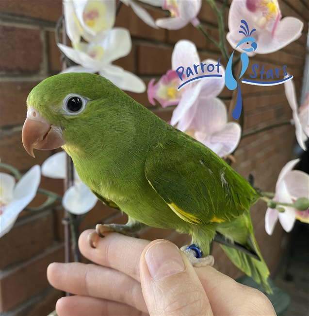
POLYGON ((74 3, 71 0, 64 0, 65 31, 72 42, 78 43, 81 40, 82 28, 75 14, 74 3))

